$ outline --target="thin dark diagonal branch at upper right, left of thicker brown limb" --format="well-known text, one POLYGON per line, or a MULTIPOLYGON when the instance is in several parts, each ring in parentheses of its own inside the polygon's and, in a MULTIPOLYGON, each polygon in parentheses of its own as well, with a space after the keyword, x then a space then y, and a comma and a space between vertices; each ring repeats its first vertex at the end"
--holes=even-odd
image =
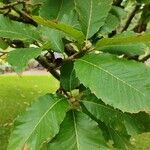
POLYGON ((134 18, 135 15, 136 15, 136 13, 139 11, 140 7, 141 7, 141 5, 139 5, 139 4, 137 4, 137 5, 134 7, 133 11, 132 11, 131 14, 129 15, 128 20, 126 21, 125 26, 124 26, 124 28, 122 29, 121 32, 124 32, 124 31, 126 31, 126 30, 128 29, 128 27, 130 26, 130 24, 131 24, 133 18, 134 18))

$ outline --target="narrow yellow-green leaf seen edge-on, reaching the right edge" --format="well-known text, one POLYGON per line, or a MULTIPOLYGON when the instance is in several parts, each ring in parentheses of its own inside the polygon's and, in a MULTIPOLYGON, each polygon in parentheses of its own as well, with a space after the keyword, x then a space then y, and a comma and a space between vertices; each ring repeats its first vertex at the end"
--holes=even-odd
POLYGON ((96 44, 96 49, 99 49, 103 46, 110 45, 123 45, 123 44, 135 44, 135 43, 149 43, 150 42, 150 34, 137 34, 137 35, 129 35, 123 37, 114 37, 114 38, 103 38, 99 40, 96 44))

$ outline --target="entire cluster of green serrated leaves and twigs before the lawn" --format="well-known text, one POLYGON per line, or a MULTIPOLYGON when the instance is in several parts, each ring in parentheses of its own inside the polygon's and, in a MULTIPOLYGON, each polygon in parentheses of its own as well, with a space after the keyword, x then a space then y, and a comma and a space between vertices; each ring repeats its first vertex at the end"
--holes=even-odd
POLYGON ((150 131, 149 3, 134 4, 128 16, 117 0, 0 3, 9 64, 20 73, 34 58, 60 82, 16 119, 8 150, 127 150, 133 135, 150 131))

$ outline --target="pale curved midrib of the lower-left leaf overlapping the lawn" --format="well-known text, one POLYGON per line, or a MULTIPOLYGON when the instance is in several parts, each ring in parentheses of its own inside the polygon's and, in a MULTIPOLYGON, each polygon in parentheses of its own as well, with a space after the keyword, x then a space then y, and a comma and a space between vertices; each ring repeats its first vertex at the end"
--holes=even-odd
POLYGON ((25 139, 24 144, 26 144, 26 142, 29 140, 29 138, 31 137, 31 135, 33 134, 33 132, 36 130, 36 128, 38 127, 38 125, 41 123, 41 121, 43 120, 43 118, 49 113, 49 111, 60 101, 62 101, 62 99, 58 100, 57 102, 55 102, 52 106, 50 106, 50 108, 42 115, 42 117, 39 119, 39 121, 37 122, 37 124, 35 125, 35 127, 33 128, 33 130, 31 131, 31 133, 29 134, 29 136, 25 139))

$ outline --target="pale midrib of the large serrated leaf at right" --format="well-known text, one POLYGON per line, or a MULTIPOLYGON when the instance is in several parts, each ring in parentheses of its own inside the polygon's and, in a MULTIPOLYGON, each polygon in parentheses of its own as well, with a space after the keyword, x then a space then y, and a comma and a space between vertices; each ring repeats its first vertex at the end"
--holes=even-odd
POLYGON ((84 63, 87 63, 87 64, 89 64, 89 65, 91 65, 91 66, 93 66, 93 67, 95 67, 95 68, 97 68, 97 69, 99 69, 99 70, 105 72, 106 74, 109 74, 110 76, 112 76, 113 78, 115 78, 117 81, 122 82, 123 84, 127 85, 129 88, 134 89, 134 90, 135 90, 136 92, 138 92, 140 95, 142 95, 142 96, 145 97, 145 94, 142 93, 139 89, 136 89, 136 88, 133 87, 132 85, 128 84, 126 81, 124 81, 124 80, 118 78, 117 76, 113 75, 113 74, 112 74, 111 72, 109 72, 108 70, 105 70, 104 68, 102 68, 102 67, 100 67, 100 66, 97 66, 97 65, 95 65, 95 64, 93 64, 93 63, 91 63, 91 62, 88 62, 88 61, 86 61, 86 60, 84 60, 84 59, 79 59, 79 61, 82 61, 82 62, 84 62, 84 63))

